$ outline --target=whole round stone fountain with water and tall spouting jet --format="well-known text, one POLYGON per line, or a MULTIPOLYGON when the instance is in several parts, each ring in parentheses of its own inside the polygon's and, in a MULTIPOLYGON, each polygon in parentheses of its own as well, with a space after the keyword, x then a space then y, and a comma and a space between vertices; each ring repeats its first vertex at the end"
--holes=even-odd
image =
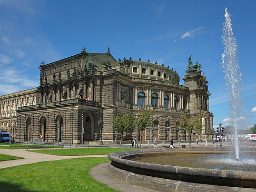
POLYGON ((117 151, 108 156, 112 162, 109 164, 107 172, 111 176, 125 183, 157 191, 255 191, 255 150, 243 151, 242 155, 251 155, 249 159, 244 160, 243 156, 239 157, 237 129, 239 119, 242 117, 239 114, 241 75, 236 59, 237 45, 227 8, 225 9, 223 32, 222 64, 227 87, 230 90, 230 115, 234 127, 234 155, 237 161, 228 159, 229 166, 219 166, 225 164, 225 160, 220 160, 221 157, 227 157, 231 151, 215 148, 207 150, 204 148, 164 148, 117 151), (199 165, 204 164, 203 161, 195 161, 196 158, 204 158, 208 155, 210 158, 216 156, 216 159, 211 159, 208 165, 207 163, 199 165), (154 158, 154 161, 140 160, 140 158, 145 159, 149 156, 154 158), (165 164, 162 162, 164 156, 167 157, 166 161, 171 161, 172 158, 175 160, 172 160, 171 164, 165 164), (181 156, 182 158, 179 159, 181 156), (212 165, 218 163, 217 166, 212 165), (238 168, 240 165, 241 167, 238 168), (244 166, 247 167, 244 168, 244 166))

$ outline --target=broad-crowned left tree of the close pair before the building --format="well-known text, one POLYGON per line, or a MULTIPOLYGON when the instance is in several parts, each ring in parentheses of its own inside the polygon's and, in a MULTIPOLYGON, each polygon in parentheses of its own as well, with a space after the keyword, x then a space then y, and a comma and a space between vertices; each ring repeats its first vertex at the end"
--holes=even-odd
POLYGON ((124 133, 132 133, 135 128, 135 115, 124 114, 124 115, 116 115, 111 119, 112 127, 119 133, 121 133, 121 137, 119 140, 119 147, 122 144, 122 138, 124 133))

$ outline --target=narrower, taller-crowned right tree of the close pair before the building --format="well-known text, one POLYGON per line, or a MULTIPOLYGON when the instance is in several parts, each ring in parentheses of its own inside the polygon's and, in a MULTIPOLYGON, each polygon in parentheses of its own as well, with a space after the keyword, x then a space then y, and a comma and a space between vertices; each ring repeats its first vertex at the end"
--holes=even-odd
POLYGON ((144 110, 143 112, 140 113, 140 116, 137 118, 136 126, 140 132, 140 148, 141 148, 142 132, 151 124, 150 116, 151 116, 150 110, 144 110))

